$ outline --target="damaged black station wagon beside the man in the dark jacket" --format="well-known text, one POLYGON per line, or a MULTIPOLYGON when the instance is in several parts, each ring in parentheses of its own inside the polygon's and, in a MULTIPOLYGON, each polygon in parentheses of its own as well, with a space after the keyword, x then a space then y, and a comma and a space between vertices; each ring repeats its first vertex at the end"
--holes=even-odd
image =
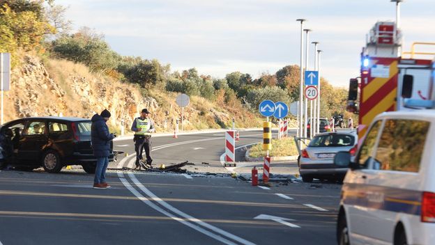
MULTIPOLYGON (((85 118, 33 117, 13 120, 0 128, 0 167, 32 170, 43 166, 59 173, 63 166, 82 165, 95 173, 97 159, 91 145, 91 120, 85 118)), ((113 143, 109 161, 114 160, 113 143)))

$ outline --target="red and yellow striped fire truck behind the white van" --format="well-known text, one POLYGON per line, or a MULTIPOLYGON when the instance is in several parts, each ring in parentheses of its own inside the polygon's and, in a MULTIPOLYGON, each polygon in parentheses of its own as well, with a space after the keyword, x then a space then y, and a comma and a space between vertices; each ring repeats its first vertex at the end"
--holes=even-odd
POLYGON ((377 22, 369 31, 361 52, 361 74, 350 81, 346 107, 358 113, 360 139, 379 113, 407 109, 406 101, 435 99, 430 78, 435 53, 415 52, 415 47, 425 51, 427 45, 435 43, 414 42, 411 52, 402 52, 402 32, 395 22, 377 22))

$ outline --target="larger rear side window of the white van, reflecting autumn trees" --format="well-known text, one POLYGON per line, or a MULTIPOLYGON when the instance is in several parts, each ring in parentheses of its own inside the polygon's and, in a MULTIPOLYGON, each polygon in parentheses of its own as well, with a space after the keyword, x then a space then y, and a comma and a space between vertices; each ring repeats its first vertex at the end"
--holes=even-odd
POLYGON ((421 120, 386 120, 374 169, 418 172, 429 125, 421 120))

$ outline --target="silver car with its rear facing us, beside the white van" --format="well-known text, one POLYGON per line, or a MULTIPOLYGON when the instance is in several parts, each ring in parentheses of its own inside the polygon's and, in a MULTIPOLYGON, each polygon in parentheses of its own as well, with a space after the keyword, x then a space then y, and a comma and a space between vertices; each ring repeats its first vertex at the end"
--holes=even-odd
POLYGON ((334 164, 335 154, 349 151, 355 155, 357 143, 358 136, 354 132, 329 132, 314 136, 298 159, 303 182, 312 182, 313 178, 341 182, 348 168, 334 164))

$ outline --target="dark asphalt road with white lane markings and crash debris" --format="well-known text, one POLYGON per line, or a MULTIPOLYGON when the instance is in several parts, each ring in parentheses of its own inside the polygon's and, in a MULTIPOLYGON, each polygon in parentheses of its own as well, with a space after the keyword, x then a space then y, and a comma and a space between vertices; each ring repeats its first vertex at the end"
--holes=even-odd
MULTIPOLYGON (((153 164, 191 161, 222 168, 224 133, 155 137, 153 164)), ((241 132, 238 145, 261 141, 241 132)), ((110 168, 134 166, 128 152, 110 168)), ((294 163, 293 163, 294 164, 294 163)), ((220 175, 109 171, 92 189, 79 168, 0 172, 0 244, 335 244, 340 185, 252 187, 220 175)))

